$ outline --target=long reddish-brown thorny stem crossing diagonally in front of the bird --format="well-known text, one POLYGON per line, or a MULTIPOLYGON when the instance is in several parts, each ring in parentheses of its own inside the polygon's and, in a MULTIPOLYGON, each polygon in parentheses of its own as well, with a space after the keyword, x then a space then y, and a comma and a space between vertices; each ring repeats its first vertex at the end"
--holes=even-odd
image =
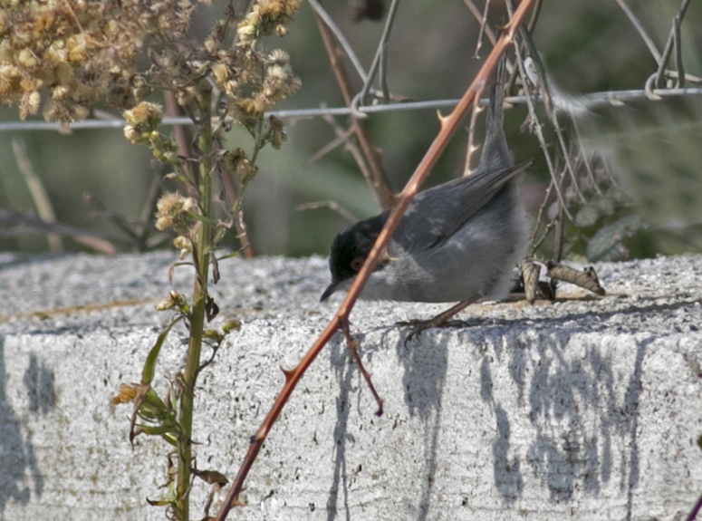
POLYGON ((273 428, 275 420, 278 419, 278 415, 281 410, 283 410, 285 403, 290 398, 295 386, 302 379, 303 374, 310 367, 317 355, 322 352, 322 348, 329 342, 332 335, 336 333, 344 323, 348 321, 349 314, 351 314, 351 309, 353 304, 361 294, 361 289, 365 285, 370 273, 380 258, 380 253, 383 251, 385 246, 389 242, 390 236, 392 236, 395 228, 399 224, 399 219, 402 218, 402 214, 405 209, 409 206, 409 202, 414 197, 417 192, 421 182, 427 178, 432 167, 436 164, 439 155, 446 148, 447 142, 451 135, 457 130, 460 121, 465 116, 466 111, 471 107, 475 101, 476 96, 483 91, 483 88, 488 82, 490 73, 495 69, 497 62, 500 60, 502 54, 508 45, 514 42, 514 33, 520 24, 524 21, 524 17, 529 12, 529 9, 534 4, 534 0, 523 0, 519 5, 517 10, 514 12, 514 17, 510 20, 509 24, 505 25, 503 33, 500 35, 500 39, 495 43, 495 47, 492 52, 487 56, 485 63, 480 68, 480 72, 477 73, 476 79, 471 83, 470 87, 466 90, 466 93, 459 101, 456 109, 451 112, 447 117, 441 118, 441 130, 438 132, 437 138, 432 142, 431 146, 427 150, 424 159, 419 163, 417 169, 415 170, 412 177, 409 179, 407 185, 402 190, 399 195, 399 199, 395 207, 392 208, 388 220, 385 226, 380 231, 380 235, 376 240, 373 248, 370 250, 370 255, 366 258, 365 263, 361 267, 361 271, 349 288, 346 297, 344 298, 339 310, 332 317, 332 320, 327 327, 324 329, 322 334, 317 338, 313 346, 306 352, 300 363, 295 366, 292 371, 284 371, 285 383, 283 389, 278 394, 277 398, 274 400, 273 406, 265 415, 261 426, 256 431, 255 435, 251 439, 251 445, 249 446, 248 452, 244 461, 236 473, 236 478, 229 488, 229 492, 226 495, 226 499, 216 515, 216 521, 224 521, 229 510, 239 503, 239 494, 244 487, 244 481, 248 475, 251 466, 254 464, 255 458, 258 452, 264 445, 264 440, 268 436, 268 433, 273 428))

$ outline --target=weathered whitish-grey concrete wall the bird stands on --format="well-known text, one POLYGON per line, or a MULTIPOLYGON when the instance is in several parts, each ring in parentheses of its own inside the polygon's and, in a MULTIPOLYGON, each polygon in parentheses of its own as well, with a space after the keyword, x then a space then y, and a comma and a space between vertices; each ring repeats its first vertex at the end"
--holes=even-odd
MULTIPOLYGON (((168 314, 168 254, 0 256, 0 519, 163 519, 168 448, 113 407, 168 314)), ((604 299, 471 306, 404 344, 427 304, 360 303, 284 410, 232 519, 684 518, 702 492, 702 257, 599 265, 604 299)), ((339 298, 322 259, 226 261, 244 323, 198 386, 197 467, 236 473, 248 437, 339 298)), ((174 284, 190 285, 188 268, 174 284)), ((574 294, 576 296, 577 293, 574 294)), ((216 323, 221 323, 217 319, 216 323)), ((180 368, 171 336, 156 387, 180 368)), ((207 489, 194 486, 192 518, 207 489)), ((221 499, 221 496, 220 496, 221 499)), ((218 503, 218 500, 216 500, 218 503)))

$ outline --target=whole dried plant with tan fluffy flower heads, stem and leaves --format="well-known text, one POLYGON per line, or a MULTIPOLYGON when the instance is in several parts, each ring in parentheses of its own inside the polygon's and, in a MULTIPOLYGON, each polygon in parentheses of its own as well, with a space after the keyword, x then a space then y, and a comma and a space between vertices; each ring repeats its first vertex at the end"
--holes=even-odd
MULTIPOLYGON (((202 2, 209 4, 209 2, 202 2)), ((149 352, 138 384, 123 384, 114 403, 133 403, 130 440, 140 434, 168 442, 163 496, 149 500, 168 508, 168 518, 189 518, 194 478, 221 487, 226 478, 195 467, 191 445, 197 376, 213 361, 236 321, 220 330, 205 323, 218 313, 207 285, 216 283, 216 247, 226 231, 241 221, 242 198, 257 174, 256 159, 266 144, 279 149, 287 140, 283 123, 264 112, 300 88, 287 53, 264 53, 257 43, 270 34, 283 36, 300 0, 258 0, 245 16, 233 6, 198 42, 189 26, 196 4, 188 0, 63 0, 0 2, 0 101, 17 104, 20 117, 37 114, 64 123, 81 120, 98 103, 123 110, 124 135, 152 150, 169 165, 167 178, 183 186, 165 193, 157 204, 156 227, 172 230, 181 259, 195 267, 190 298, 171 292, 157 305, 174 318, 149 352), (163 111, 159 96, 172 95, 197 130, 188 150, 159 130, 163 111), (252 138, 225 150, 221 135, 241 125, 252 138), (213 183, 233 175, 239 188, 234 204, 216 215, 213 183), (186 364, 164 397, 151 387, 159 352, 177 323, 188 330, 186 364), (210 347, 201 361, 203 345, 210 347)), ((168 100, 166 100, 168 101, 168 100)), ((224 206, 224 205, 221 205, 224 206)), ((206 516, 210 500, 205 506, 206 516)))

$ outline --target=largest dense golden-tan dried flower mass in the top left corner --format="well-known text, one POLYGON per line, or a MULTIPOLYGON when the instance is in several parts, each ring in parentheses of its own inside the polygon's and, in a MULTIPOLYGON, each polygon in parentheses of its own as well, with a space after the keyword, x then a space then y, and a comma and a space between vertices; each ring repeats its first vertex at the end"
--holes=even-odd
POLYGON ((137 60, 188 30, 188 0, 0 1, 0 101, 20 116, 85 118, 96 101, 131 108, 149 94, 137 60))

